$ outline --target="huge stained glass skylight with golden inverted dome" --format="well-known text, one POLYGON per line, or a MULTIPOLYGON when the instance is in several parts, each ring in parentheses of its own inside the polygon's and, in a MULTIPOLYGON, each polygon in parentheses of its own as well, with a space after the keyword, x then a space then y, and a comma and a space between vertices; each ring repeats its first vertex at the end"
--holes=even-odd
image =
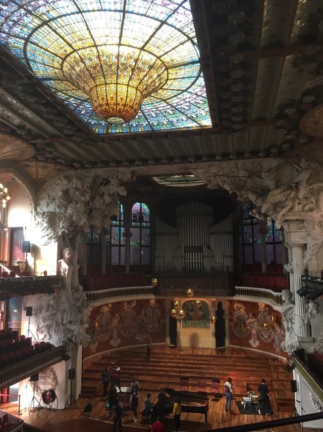
POLYGON ((96 133, 212 125, 189 0, 1 3, 1 43, 96 133))

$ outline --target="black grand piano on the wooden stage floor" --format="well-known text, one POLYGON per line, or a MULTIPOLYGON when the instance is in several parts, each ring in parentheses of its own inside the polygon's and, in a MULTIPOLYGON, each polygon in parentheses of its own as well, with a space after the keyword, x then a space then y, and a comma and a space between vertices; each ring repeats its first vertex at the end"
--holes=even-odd
POLYGON ((153 417, 162 416, 173 412, 175 396, 180 398, 182 413, 200 413, 205 416, 205 423, 208 423, 209 398, 205 394, 193 391, 176 391, 173 388, 163 388, 169 396, 158 400, 152 409, 153 417))

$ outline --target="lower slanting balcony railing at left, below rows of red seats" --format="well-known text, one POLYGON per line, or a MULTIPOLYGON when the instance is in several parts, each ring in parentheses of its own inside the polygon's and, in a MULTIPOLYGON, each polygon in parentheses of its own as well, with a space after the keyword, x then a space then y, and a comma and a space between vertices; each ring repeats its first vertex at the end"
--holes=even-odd
POLYGON ((66 352, 65 345, 44 351, 30 359, 10 364, 0 369, 0 389, 27 378, 30 375, 44 369, 52 364, 63 360, 62 356, 66 352))

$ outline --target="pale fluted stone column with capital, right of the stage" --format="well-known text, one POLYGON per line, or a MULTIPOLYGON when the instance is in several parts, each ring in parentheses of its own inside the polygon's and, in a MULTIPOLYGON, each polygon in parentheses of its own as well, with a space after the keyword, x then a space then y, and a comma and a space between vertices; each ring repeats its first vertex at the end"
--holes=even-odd
POLYGON ((303 220, 288 220, 284 222, 284 230, 290 258, 290 290, 295 301, 294 331, 298 341, 307 341, 311 335, 310 327, 304 321, 306 318, 307 301, 305 297, 301 297, 297 293, 297 290, 301 288, 307 231, 303 220))

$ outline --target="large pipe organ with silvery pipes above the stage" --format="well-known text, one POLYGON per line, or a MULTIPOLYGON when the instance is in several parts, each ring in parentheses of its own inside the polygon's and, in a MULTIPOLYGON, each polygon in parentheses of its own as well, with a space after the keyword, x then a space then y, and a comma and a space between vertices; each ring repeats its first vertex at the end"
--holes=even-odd
POLYGON ((233 271, 232 215, 213 225, 213 209, 203 203, 183 204, 176 228, 156 220, 155 266, 162 273, 233 271))

